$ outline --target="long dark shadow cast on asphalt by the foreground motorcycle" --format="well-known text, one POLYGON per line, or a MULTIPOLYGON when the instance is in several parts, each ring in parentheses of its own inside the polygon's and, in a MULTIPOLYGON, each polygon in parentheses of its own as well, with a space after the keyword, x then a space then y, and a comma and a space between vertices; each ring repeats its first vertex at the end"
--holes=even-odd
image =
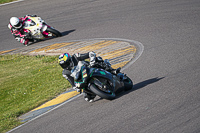
MULTIPOLYGON (((140 83, 137 83, 137 84, 133 85, 133 88, 132 88, 131 90, 128 90, 128 91, 121 91, 121 92, 117 93, 115 99, 118 99, 118 98, 120 98, 120 97, 122 97, 122 96, 124 96, 124 95, 127 95, 127 94, 129 94, 129 93, 131 93, 131 92, 133 92, 133 91, 136 91, 136 90, 138 90, 138 89, 141 89, 141 88, 143 88, 143 87, 145 87, 145 86, 147 86, 147 85, 150 85, 150 84, 153 84, 153 83, 155 83, 155 82, 158 82, 159 80, 161 80, 161 79, 163 79, 163 78, 164 78, 164 77, 161 77, 161 78, 156 77, 156 78, 148 79, 148 80, 142 81, 142 82, 140 82, 140 83)), ((102 100, 102 99, 103 99, 103 98, 99 98, 99 99, 96 99, 95 101, 99 101, 99 100, 102 100)), ((114 99, 114 100, 115 100, 115 99, 114 99)))

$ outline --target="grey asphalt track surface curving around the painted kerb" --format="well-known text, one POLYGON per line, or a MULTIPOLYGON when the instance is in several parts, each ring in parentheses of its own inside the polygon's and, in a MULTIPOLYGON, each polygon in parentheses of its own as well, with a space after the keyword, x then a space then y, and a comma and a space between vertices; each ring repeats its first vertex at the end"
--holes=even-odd
POLYGON ((40 15, 64 34, 40 43, 124 38, 144 45, 124 70, 135 90, 113 101, 78 97, 13 132, 200 132, 199 0, 25 0, 0 12, 0 51, 22 47, 7 24, 25 14, 40 15))

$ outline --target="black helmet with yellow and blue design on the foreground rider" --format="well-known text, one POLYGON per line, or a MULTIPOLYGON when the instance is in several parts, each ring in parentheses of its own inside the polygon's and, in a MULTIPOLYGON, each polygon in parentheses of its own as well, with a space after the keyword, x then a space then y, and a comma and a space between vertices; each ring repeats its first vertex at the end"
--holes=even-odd
POLYGON ((63 69, 68 68, 71 62, 72 62, 72 59, 69 53, 64 53, 59 56, 58 63, 63 69))

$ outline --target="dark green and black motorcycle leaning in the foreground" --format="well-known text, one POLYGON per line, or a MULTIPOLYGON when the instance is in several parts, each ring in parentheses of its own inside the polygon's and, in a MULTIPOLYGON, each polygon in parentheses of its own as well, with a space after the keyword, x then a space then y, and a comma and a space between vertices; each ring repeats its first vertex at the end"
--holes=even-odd
POLYGON ((117 93, 133 88, 133 82, 126 74, 112 74, 102 68, 90 68, 85 61, 79 61, 71 72, 76 87, 103 99, 113 100, 117 93))

